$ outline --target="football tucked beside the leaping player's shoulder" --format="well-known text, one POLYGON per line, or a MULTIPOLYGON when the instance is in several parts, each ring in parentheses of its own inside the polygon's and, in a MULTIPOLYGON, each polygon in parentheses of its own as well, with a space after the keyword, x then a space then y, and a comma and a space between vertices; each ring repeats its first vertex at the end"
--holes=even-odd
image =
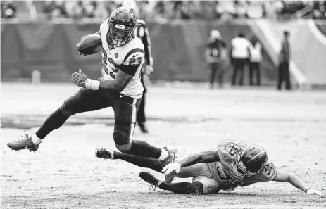
POLYGON ((83 54, 93 54, 102 48, 102 40, 99 34, 89 34, 84 36, 78 42, 77 51, 83 54))

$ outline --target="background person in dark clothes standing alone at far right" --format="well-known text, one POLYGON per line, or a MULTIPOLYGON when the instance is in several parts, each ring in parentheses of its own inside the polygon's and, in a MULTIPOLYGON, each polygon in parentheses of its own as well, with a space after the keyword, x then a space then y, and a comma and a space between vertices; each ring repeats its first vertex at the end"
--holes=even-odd
POLYGON ((289 73, 289 60, 291 56, 291 49, 289 44, 289 31, 284 31, 284 39, 282 42, 282 49, 279 53, 279 66, 277 77, 277 89, 282 89, 282 82, 285 81, 285 89, 291 89, 290 73, 289 73))

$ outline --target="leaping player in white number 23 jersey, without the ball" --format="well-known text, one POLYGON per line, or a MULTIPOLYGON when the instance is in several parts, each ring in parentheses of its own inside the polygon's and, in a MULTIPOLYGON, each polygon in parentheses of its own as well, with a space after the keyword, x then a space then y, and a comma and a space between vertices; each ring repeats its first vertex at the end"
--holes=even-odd
POLYGON ((61 127, 71 115, 112 107, 115 115, 113 139, 118 150, 134 156, 156 158, 163 165, 172 162, 172 150, 132 140, 144 90, 140 81, 144 45, 134 35, 136 27, 137 20, 130 8, 120 7, 113 11, 96 32, 101 35, 103 46, 104 80, 90 80, 81 70, 74 72, 72 80, 82 88, 52 113, 35 134, 8 141, 8 147, 15 151, 37 151, 42 139, 61 127))

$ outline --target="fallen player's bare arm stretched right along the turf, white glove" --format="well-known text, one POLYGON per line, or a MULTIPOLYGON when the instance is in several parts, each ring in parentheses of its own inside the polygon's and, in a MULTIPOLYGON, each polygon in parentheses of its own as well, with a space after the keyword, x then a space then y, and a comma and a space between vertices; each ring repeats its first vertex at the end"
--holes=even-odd
POLYGON ((301 189, 306 194, 318 194, 319 196, 324 196, 324 194, 321 191, 310 189, 303 180, 298 177, 297 175, 294 175, 294 173, 282 170, 282 169, 276 169, 276 176, 273 179, 275 182, 289 182, 293 186, 296 186, 296 188, 301 189))

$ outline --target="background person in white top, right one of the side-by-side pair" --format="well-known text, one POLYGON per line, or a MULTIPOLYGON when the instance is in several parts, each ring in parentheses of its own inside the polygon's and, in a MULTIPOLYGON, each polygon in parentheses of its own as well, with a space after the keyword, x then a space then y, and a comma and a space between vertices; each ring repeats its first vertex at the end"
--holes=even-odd
POLYGON ((249 80, 250 85, 253 86, 253 73, 256 73, 256 85, 261 85, 261 43, 258 42, 257 37, 251 39, 250 46, 250 65, 249 65, 249 80))

